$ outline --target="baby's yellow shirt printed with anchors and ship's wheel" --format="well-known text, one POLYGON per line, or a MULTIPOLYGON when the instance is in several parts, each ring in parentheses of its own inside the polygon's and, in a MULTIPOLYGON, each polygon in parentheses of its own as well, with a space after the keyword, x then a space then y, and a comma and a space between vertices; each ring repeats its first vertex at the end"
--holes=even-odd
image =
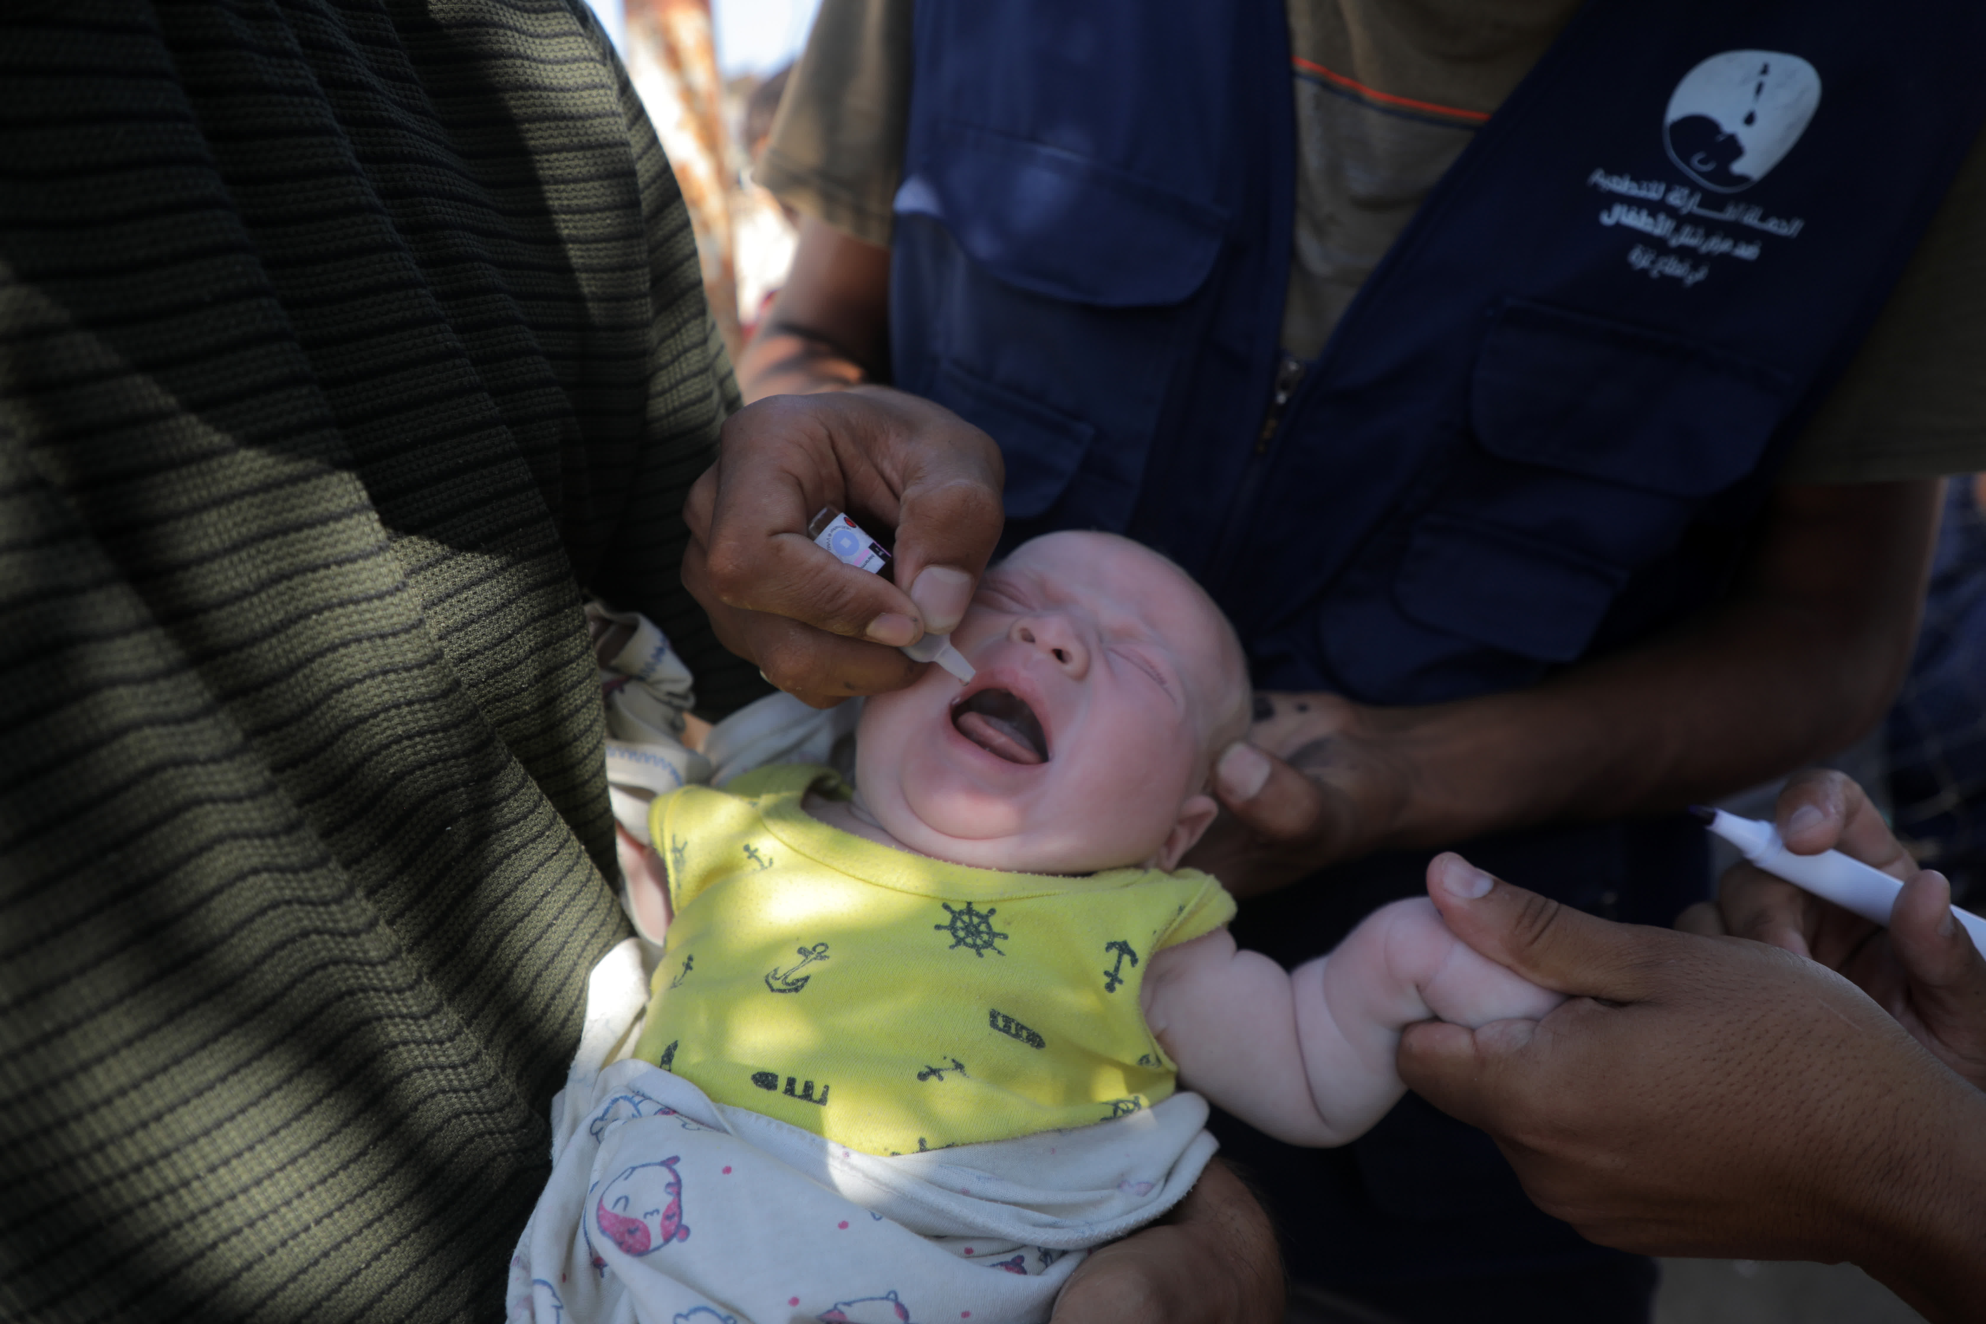
POLYGON ((866 842, 777 766, 649 812, 667 953, 636 1056, 721 1104, 868 1153, 1088 1125, 1168 1098, 1144 1024, 1152 953, 1235 903, 1198 869, 1003 873, 866 842))

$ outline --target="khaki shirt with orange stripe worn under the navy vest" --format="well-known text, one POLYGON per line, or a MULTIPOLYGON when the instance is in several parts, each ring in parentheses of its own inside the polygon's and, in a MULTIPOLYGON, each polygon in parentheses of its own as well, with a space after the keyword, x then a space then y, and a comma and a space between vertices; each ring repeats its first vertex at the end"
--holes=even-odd
MULTIPOLYGON (((1315 357, 1358 286, 1577 0, 1289 0, 1297 214, 1283 347, 1315 357)), ((757 169, 790 206, 888 246, 916 0, 822 0, 757 169)), ((1877 181, 1851 187, 1879 187, 1877 181)), ((1986 139, 1785 482, 1986 468, 1986 139)))

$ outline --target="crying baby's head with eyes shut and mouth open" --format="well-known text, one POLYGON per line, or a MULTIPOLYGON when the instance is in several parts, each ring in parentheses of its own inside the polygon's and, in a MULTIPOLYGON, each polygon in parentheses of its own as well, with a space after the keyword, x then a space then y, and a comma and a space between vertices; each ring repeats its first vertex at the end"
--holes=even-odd
POLYGON ((862 804, 898 842, 987 869, 1170 869, 1213 820, 1209 746, 1245 671, 1200 588, 1110 534, 1051 534, 987 572, 929 667, 862 713, 862 804))

